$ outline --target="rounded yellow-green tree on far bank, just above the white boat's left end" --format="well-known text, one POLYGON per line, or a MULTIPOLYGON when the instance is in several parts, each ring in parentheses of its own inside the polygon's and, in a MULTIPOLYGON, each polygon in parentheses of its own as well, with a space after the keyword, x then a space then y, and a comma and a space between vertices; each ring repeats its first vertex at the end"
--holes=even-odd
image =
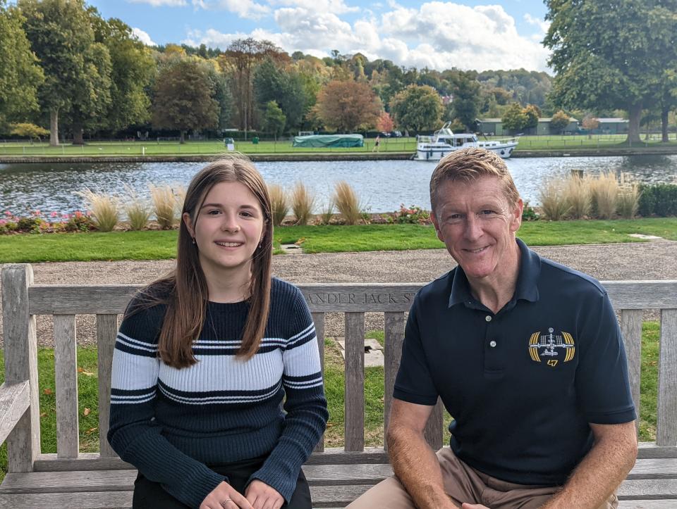
POLYGON ((442 100, 432 87, 413 84, 394 96, 390 110, 401 129, 435 129, 440 123, 442 100))

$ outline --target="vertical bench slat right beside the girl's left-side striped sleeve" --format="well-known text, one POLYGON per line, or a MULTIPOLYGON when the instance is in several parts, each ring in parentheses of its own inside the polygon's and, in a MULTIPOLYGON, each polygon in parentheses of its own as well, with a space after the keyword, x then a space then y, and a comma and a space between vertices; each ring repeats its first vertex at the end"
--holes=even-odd
POLYGON ((102 456, 115 456, 108 443, 110 403, 111 403, 111 367, 115 338, 118 329, 118 315, 97 315, 97 365, 99 375, 99 451, 102 456))

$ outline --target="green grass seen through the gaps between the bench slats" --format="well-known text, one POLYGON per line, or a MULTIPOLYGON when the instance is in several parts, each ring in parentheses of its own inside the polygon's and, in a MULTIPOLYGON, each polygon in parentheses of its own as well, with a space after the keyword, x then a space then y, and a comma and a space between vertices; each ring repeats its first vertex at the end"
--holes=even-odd
MULTIPOLYGON (((367 332, 367 337, 383 343, 383 331, 367 332)), ((656 406, 658 394, 659 324, 642 324, 642 379, 640 398, 640 441, 656 439, 656 406)), ((329 422, 325 434, 327 447, 343 446, 343 358, 338 344, 331 338, 324 340, 324 387, 329 404, 329 422)), ((80 413, 80 452, 98 451, 99 407, 96 348, 78 348, 78 398, 80 413)), ((54 394, 54 351, 38 351, 40 431, 43 453, 56 453, 56 395, 54 394)), ((4 356, 0 351, 0 383, 4 381, 4 356)), ((383 444, 383 367, 365 368, 365 443, 383 444)), ((449 415, 444 422, 445 441, 449 434, 449 415)), ((0 482, 7 469, 6 445, 0 447, 0 482)))

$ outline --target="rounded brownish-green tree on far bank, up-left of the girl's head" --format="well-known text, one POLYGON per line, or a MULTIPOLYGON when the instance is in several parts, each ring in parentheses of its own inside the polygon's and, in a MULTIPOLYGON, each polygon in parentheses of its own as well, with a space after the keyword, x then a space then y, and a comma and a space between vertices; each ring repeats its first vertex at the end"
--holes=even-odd
POLYGON ((154 127, 181 131, 216 127, 219 103, 212 98, 207 71, 196 61, 182 61, 161 70, 155 84, 154 127))

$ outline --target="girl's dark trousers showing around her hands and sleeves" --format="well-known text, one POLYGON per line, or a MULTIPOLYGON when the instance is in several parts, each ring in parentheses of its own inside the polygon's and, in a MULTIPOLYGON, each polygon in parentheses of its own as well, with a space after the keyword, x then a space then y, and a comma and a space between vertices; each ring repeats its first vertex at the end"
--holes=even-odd
MULTIPOLYGON (((245 494, 247 488, 247 481, 250 476, 260 469, 266 458, 253 458, 251 460, 242 460, 236 463, 226 463, 223 465, 209 465, 209 468, 214 472, 228 477, 228 484, 233 486, 240 494, 245 494)), ((176 500, 169 493, 164 491, 159 482, 152 482, 146 479, 141 472, 136 477, 134 482, 134 499, 132 503, 133 509, 185 509, 188 505, 176 500)), ((298 480, 296 481, 296 489, 291 496, 289 503, 282 506, 284 509, 311 509, 310 489, 308 482, 303 475, 303 471, 299 472, 298 480)), ((189 508, 190 509, 190 508, 189 508)))

